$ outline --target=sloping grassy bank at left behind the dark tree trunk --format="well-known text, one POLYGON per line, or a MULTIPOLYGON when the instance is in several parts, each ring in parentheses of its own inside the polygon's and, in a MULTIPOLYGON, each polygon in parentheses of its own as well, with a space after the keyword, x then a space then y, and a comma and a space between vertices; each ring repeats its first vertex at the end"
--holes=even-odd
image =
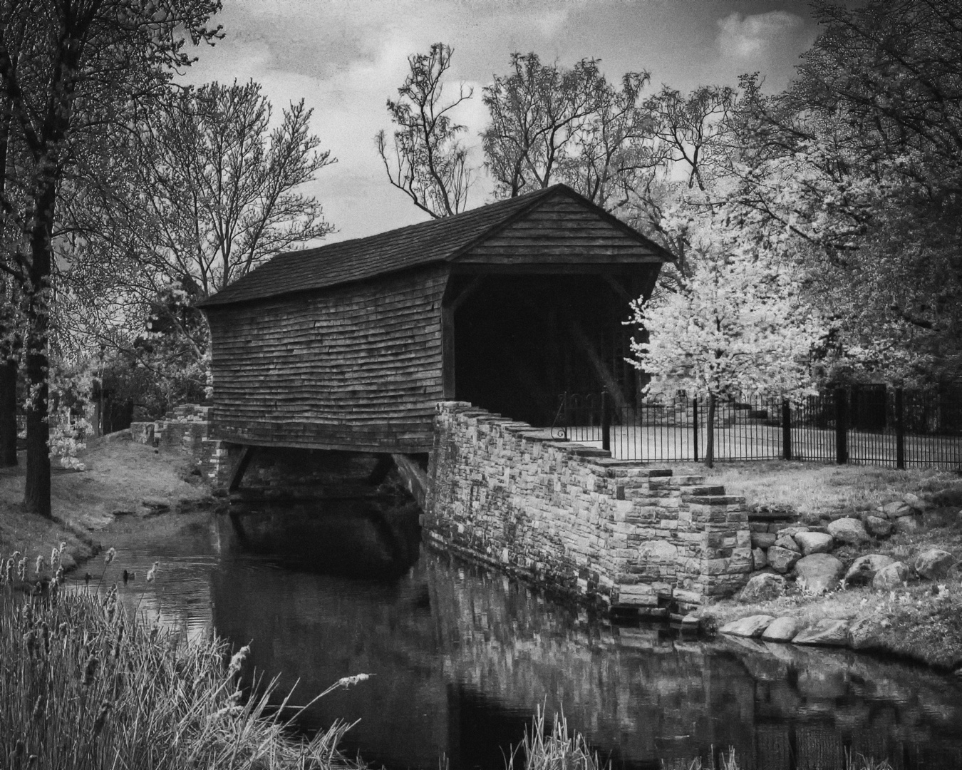
MULTIPOLYGON (((0 556, 13 551, 49 556, 67 544, 64 567, 72 568, 99 551, 107 527, 123 521, 131 526, 154 526, 165 517, 149 516, 162 503, 171 508, 195 505, 210 496, 210 488, 190 475, 187 458, 176 451, 156 451, 135 444, 129 436, 91 441, 80 454, 84 471, 55 468, 52 484, 54 519, 22 510, 26 458, 16 468, 0 469, 0 556), (144 501, 151 505, 144 505, 144 501), (129 523, 129 524, 128 524, 129 523)), ((105 547, 110 543, 103 542, 105 547)))

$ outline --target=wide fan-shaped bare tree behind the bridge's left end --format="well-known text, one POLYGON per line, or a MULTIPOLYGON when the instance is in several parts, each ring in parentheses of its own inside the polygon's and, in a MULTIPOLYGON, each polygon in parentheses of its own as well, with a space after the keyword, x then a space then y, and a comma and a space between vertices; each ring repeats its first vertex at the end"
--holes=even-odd
POLYGON ((254 82, 172 95, 128 137, 123 163, 75 188, 58 240, 64 337, 136 360, 171 392, 202 393, 209 335, 194 303, 333 230, 301 192, 334 163, 310 118, 301 101, 271 129, 254 82))

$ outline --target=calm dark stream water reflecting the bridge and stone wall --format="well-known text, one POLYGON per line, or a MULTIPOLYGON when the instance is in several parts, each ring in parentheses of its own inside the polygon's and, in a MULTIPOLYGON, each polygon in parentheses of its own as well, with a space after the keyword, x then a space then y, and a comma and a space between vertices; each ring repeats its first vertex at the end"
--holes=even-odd
POLYGON ((953 678, 864 655, 593 624, 507 578, 418 555, 370 517, 291 515, 281 526, 277 512, 251 514, 241 538, 224 515, 178 521, 156 542, 142 542, 136 521, 105 534, 118 551, 105 582, 134 570, 126 603, 194 635, 213 628, 250 643, 282 690, 299 680, 296 703, 372 675, 312 706, 305 726, 360 720, 342 746, 374 765, 437 768, 444 755, 452 770, 504 767, 544 705, 563 709, 615 767, 687 768, 728 746, 759 770, 834 769, 847 750, 894 768, 962 767, 953 678), (278 552, 285 539, 298 558, 278 552), (312 552, 317 543, 324 550, 312 552), (157 581, 145 582, 158 559, 157 581))

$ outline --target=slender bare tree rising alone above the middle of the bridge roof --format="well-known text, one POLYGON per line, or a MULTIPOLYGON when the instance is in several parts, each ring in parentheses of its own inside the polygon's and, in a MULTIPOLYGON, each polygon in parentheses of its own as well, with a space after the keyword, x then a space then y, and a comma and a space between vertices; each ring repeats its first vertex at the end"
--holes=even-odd
POLYGON ((410 72, 397 90, 399 98, 388 100, 397 126, 392 146, 383 130, 374 140, 391 184, 434 218, 464 211, 474 175, 468 148, 459 139, 467 129, 450 115, 472 91, 461 86, 452 101, 443 100, 443 77, 453 53, 437 42, 428 53, 408 57, 410 72))

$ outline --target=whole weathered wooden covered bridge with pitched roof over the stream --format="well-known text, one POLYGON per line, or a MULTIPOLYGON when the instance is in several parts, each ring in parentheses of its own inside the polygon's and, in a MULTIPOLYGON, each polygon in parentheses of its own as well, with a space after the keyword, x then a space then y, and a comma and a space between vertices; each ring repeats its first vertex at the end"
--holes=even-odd
POLYGON ((564 185, 278 254, 201 303, 215 437, 418 453, 440 400, 534 424, 564 391, 633 400, 622 321, 669 259, 564 185))

